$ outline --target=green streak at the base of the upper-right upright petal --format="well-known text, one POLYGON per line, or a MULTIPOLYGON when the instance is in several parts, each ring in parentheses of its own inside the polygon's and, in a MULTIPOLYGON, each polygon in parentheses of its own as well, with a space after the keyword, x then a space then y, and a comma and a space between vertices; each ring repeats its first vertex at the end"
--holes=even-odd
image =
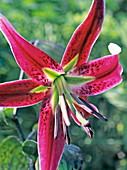
POLYGON ((77 54, 67 65, 64 66, 63 70, 65 73, 70 71, 77 63, 79 54, 77 54))

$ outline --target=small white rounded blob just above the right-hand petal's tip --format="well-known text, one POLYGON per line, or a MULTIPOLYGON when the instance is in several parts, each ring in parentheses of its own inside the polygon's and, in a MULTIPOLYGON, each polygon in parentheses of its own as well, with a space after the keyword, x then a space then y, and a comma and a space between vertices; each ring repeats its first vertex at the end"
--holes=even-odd
POLYGON ((110 43, 110 44, 108 45, 108 49, 109 49, 109 52, 110 52, 112 55, 116 55, 116 54, 121 53, 121 47, 118 46, 118 45, 115 44, 115 43, 110 43))

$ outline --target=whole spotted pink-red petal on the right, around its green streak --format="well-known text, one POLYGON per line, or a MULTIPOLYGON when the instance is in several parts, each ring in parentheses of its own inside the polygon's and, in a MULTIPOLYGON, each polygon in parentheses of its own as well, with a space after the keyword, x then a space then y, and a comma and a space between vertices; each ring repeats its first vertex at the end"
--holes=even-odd
POLYGON ((118 55, 105 56, 82 64, 70 75, 93 76, 95 80, 86 84, 71 86, 72 92, 79 96, 96 95, 118 85, 121 81, 122 67, 118 55))

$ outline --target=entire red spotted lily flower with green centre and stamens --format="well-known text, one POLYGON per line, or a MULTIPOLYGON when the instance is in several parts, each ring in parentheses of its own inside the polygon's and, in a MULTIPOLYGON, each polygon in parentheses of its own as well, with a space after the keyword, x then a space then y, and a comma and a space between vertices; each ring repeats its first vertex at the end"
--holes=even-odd
POLYGON ((25 107, 42 101, 38 148, 40 167, 58 167, 65 141, 70 142, 70 116, 92 137, 90 115, 107 121, 87 97, 105 92, 121 81, 118 53, 87 62, 100 34, 104 0, 93 0, 87 18, 76 29, 61 64, 26 41, 0 14, 0 29, 19 67, 31 78, 0 84, 1 107, 25 107))

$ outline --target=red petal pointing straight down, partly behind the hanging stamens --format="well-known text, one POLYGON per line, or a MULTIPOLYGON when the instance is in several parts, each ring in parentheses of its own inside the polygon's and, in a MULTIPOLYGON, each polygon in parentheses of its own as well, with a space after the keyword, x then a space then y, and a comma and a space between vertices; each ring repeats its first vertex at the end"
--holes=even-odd
POLYGON ((39 116, 38 146, 40 167, 44 170, 56 170, 63 153, 65 138, 62 122, 58 138, 54 139, 54 115, 51 106, 51 94, 45 96, 39 116))

